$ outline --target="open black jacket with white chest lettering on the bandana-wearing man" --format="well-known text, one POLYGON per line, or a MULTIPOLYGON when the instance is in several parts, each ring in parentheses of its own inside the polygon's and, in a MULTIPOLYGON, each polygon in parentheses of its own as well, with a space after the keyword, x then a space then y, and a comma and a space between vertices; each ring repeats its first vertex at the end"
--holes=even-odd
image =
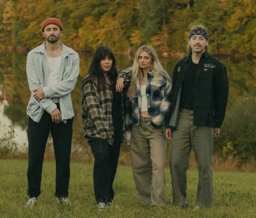
MULTIPOLYGON (((175 129, 177 125, 177 121, 173 124, 171 119, 177 120, 179 116, 180 91, 190 64, 191 54, 181 59, 173 70, 172 94, 170 96, 172 104, 165 120, 166 127, 172 129, 175 129)), ((208 53, 202 54, 195 76, 193 124, 195 126, 220 127, 225 118, 227 99, 228 78, 224 64, 208 53)))

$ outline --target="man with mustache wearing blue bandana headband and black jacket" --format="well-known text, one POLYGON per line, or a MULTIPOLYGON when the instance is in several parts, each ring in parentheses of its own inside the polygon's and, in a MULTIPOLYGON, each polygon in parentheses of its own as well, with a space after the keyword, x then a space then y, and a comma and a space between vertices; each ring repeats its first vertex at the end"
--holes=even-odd
POLYGON ((189 55, 173 70, 172 106, 166 119, 166 137, 172 139, 170 170, 173 205, 188 208, 187 177, 193 148, 198 168, 195 209, 214 205, 212 146, 214 129, 220 138, 228 99, 225 66, 210 55, 207 29, 195 25, 189 33, 189 55))

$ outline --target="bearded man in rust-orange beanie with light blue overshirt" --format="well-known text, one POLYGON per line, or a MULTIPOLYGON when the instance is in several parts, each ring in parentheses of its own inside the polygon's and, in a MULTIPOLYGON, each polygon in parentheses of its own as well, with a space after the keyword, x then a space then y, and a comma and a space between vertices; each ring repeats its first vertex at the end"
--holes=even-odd
POLYGON ((27 57, 27 76, 31 96, 28 114, 28 207, 41 193, 42 165, 51 132, 56 159, 58 203, 70 205, 68 185, 74 110, 70 93, 79 75, 79 55, 60 42, 61 20, 47 18, 41 25, 45 42, 27 57))

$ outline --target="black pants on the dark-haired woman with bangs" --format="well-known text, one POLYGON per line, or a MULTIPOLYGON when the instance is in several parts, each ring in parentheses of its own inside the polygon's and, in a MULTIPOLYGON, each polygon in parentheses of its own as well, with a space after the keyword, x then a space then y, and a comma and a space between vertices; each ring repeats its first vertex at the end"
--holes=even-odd
POLYGON ((114 199, 113 182, 122 143, 122 115, 113 115, 114 143, 109 145, 102 138, 89 138, 95 158, 93 167, 93 186, 97 203, 109 203, 114 199))

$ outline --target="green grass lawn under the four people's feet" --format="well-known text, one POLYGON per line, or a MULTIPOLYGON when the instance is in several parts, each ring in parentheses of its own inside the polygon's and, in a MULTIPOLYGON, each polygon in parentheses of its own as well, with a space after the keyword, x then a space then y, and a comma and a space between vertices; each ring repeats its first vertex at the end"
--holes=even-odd
POLYGON ((55 164, 44 162, 38 205, 26 208, 27 161, 0 159, 0 217, 256 217, 256 173, 214 172, 213 208, 194 211, 197 171, 188 171, 190 208, 172 206, 170 171, 166 169, 166 207, 145 205, 136 193, 131 167, 118 166, 113 207, 98 212, 93 194, 93 164, 71 163, 71 207, 60 207, 54 197, 55 164))

